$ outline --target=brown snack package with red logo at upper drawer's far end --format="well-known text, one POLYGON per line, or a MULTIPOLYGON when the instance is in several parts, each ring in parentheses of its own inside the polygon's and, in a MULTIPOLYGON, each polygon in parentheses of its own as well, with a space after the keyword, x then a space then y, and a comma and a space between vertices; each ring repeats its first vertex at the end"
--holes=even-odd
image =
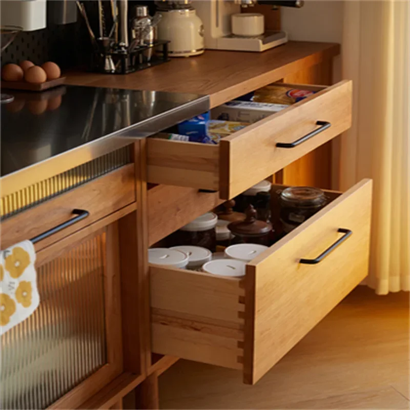
POLYGON ((266 86, 255 91, 252 101, 270 104, 294 104, 316 92, 280 85, 266 86))

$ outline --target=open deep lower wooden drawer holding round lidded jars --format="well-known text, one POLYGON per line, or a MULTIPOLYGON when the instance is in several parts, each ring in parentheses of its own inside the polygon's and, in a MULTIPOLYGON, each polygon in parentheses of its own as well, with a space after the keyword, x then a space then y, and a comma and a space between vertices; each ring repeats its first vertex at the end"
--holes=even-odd
POLYGON ((151 265, 152 352, 241 369, 256 383, 367 274, 372 181, 329 196, 244 278, 151 265))

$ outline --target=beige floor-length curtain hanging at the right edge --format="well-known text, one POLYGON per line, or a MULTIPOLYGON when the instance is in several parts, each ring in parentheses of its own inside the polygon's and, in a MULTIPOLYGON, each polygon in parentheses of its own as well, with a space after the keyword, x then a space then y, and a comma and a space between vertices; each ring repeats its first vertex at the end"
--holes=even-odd
MULTIPOLYGON (((378 294, 409 290, 409 2, 344 2, 342 75, 354 81, 340 188, 374 180, 370 271, 378 294)), ((360 203, 357 204, 360 207, 360 203)))

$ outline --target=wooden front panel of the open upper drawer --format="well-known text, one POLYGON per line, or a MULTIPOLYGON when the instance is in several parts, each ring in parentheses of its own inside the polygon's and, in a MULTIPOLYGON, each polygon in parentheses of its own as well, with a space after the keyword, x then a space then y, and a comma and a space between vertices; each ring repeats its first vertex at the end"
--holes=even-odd
POLYGON ((219 143, 220 197, 229 199, 238 195, 347 130, 351 124, 352 81, 344 80, 223 138, 219 143), (293 142, 315 130, 318 120, 329 121, 331 127, 294 148, 276 147, 277 142, 293 142))

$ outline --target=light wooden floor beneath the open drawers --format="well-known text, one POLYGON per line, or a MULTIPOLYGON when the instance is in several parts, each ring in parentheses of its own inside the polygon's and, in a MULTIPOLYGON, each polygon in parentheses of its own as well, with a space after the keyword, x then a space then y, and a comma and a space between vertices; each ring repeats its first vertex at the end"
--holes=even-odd
POLYGON ((255 386, 180 360, 159 392, 162 409, 408 409, 409 294, 359 286, 255 386))

